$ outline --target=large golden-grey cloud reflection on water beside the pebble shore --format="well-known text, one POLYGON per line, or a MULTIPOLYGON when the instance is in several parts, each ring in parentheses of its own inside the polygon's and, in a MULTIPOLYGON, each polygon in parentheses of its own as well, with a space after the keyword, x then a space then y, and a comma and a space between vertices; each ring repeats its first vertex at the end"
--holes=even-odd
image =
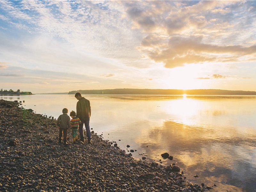
POLYGON ((255 135, 255 131, 250 138, 229 128, 205 129, 166 121, 162 127, 148 130, 137 142, 156 161, 164 152, 173 156, 174 161, 163 160, 165 165, 176 162, 188 173, 200 174, 200 179, 214 177, 216 182, 246 188, 252 187, 251 181, 256 179, 255 135))

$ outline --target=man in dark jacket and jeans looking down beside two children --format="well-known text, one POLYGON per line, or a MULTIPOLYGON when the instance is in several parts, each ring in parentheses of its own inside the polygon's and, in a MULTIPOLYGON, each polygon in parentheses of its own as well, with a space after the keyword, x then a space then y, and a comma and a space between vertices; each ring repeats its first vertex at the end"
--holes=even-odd
POLYGON ((79 134, 80 140, 84 142, 84 130, 83 126, 85 125, 86 136, 88 138, 88 143, 92 143, 91 131, 90 131, 90 117, 91 117, 91 104, 90 101, 82 97, 81 93, 77 92, 75 94, 76 99, 78 100, 76 103, 76 116, 81 120, 81 124, 79 124, 79 134))

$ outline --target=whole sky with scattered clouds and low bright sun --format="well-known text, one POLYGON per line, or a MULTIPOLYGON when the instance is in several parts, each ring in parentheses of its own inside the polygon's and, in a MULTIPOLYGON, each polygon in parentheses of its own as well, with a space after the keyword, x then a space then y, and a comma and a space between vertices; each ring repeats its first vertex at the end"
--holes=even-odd
POLYGON ((0 88, 256 91, 256 1, 0 0, 0 88))

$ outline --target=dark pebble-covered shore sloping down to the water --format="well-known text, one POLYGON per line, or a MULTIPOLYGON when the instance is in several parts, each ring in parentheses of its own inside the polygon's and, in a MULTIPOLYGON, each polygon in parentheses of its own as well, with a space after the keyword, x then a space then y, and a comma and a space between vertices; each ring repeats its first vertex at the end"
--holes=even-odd
MULTIPOLYGON (((92 132, 92 144, 58 144, 56 120, 0 101, 0 191, 208 191, 177 166, 134 160, 92 132)), ((69 133, 70 135, 70 133, 69 133)), ((70 138, 70 137, 69 137, 70 138)))

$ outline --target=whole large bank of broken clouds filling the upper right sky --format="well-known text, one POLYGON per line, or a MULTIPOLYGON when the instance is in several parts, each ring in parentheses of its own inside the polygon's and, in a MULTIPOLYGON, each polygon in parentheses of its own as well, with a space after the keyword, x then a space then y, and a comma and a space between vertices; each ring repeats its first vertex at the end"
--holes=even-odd
POLYGON ((166 68, 175 68, 255 61, 255 9, 251 7, 252 2, 143 2, 129 4, 127 15, 146 34, 138 50, 166 68))

